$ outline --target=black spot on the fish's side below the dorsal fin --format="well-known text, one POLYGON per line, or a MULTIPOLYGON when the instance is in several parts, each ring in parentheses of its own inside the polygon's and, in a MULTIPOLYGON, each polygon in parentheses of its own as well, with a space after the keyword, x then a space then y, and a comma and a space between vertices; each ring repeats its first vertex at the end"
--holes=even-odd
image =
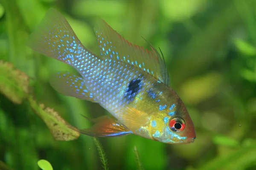
POLYGON ((133 79, 128 85, 128 90, 125 92, 125 101, 131 102, 134 100, 136 95, 140 92, 141 88, 141 80, 140 79, 133 79))

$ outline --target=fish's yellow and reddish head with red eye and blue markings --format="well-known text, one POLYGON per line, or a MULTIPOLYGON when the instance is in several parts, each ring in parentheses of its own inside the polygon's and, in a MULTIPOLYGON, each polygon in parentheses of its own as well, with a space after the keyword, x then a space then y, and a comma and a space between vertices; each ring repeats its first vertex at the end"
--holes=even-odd
POLYGON ((171 102, 169 108, 151 116, 151 135, 154 140, 168 144, 194 142, 195 127, 189 113, 181 101, 171 102))

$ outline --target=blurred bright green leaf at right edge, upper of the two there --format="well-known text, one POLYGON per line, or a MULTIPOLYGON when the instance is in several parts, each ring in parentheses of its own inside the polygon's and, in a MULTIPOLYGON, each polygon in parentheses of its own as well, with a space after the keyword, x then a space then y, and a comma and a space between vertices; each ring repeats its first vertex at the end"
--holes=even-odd
POLYGON ((251 45, 250 43, 245 42, 240 39, 234 40, 234 43, 236 45, 236 48, 238 48, 241 53, 248 55, 248 56, 256 55, 256 48, 253 45, 251 45))

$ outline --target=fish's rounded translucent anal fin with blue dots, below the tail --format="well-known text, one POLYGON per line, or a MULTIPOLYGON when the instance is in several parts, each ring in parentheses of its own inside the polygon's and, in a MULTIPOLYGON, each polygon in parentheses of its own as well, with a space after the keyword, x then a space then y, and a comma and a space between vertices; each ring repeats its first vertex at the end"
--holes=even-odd
POLYGON ((69 72, 58 72, 50 77, 49 83, 52 88, 65 96, 74 96, 78 99, 97 102, 84 85, 82 77, 73 75, 69 72))

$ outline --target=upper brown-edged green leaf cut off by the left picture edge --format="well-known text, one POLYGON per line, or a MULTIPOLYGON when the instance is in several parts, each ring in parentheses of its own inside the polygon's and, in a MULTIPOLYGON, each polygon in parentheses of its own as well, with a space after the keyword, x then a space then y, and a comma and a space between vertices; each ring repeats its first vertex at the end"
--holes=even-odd
POLYGON ((29 77, 9 62, 0 61, 0 93, 16 104, 27 97, 29 77))

